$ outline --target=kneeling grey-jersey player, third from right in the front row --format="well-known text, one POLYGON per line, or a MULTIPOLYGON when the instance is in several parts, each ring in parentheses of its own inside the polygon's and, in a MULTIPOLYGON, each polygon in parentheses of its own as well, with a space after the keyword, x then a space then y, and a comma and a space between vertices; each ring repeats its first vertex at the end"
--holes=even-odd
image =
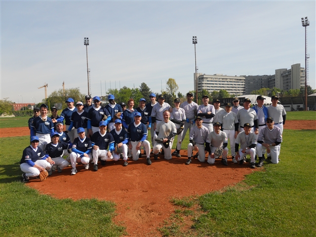
POLYGON ((214 164, 215 158, 219 158, 219 156, 215 155, 214 152, 217 148, 223 148, 222 160, 221 163, 224 165, 227 164, 227 154, 228 154, 228 142, 226 133, 221 131, 221 124, 219 122, 215 122, 213 125, 214 130, 208 134, 208 141, 210 143, 210 155, 207 159, 207 163, 214 164))

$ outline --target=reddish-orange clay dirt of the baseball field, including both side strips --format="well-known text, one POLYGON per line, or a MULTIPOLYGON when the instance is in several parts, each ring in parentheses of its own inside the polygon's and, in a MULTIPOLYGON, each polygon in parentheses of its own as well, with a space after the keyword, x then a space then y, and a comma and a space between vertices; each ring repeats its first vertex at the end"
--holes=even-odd
MULTIPOLYGON (((315 120, 288 120, 284 129, 316 129, 315 120)), ((0 137, 29 135, 28 127, 2 128, 0 137)), ((223 187, 234 185, 244 179, 244 175, 255 170, 249 164, 232 163, 228 166, 217 159, 215 164, 200 163, 194 159, 185 165, 186 151, 182 158, 172 160, 152 158, 152 165, 146 164, 145 156, 138 161, 107 161, 99 163, 94 172, 92 165, 84 170, 78 165, 78 173, 71 176, 71 168, 62 173, 53 172, 43 182, 31 180, 28 186, 56 198, 98 198, 111 200, 117 204, 115 222, 123 224, 129 236, 161 236, 157 227, 173 213, 175 207, 169 202, 172 197, 202 195, 223 187)))

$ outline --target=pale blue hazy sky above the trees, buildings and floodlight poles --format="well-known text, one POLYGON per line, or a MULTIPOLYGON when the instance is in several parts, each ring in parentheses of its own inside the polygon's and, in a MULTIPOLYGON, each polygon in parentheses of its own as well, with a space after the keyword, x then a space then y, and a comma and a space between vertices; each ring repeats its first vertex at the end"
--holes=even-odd
POLYGON ((1 99, 40 102, 62 88, 87 93, 86 50, 92 95, 119 85, 155 92, 176 79, 193 90, 192 36, 198 72, 273 75, 305 67, 308 16, 309 83, 315 89, 315 1, 3 1, 1 99), (34 97, 34 98, 32 98, 34 97))

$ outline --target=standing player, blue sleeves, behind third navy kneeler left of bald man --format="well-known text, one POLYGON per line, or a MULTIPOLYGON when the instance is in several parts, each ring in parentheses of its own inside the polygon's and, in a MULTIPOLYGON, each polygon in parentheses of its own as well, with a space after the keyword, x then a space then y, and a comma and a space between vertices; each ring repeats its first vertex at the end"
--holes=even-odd
POLYGON ((101 107, 101 99, 99 96, 93 97, 94 106, 89 110, 87 115, 87 129, 88 136, 91 137, 93 133, 99 131, 99 123, 101 120, 105 120, 108 124, 111 121, 111 115, 109 111, 101 107))

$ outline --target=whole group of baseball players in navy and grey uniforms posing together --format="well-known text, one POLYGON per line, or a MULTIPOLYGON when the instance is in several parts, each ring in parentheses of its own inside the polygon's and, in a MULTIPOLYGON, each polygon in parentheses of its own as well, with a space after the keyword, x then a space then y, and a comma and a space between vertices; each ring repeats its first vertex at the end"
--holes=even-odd
POLYGON ((238 98, 234 98, 234 105, 226 103, 225 109, 217 99, 213 105, 209 104, 207 95, 198 106, 191 92, 181 104, 179 98, 174 99, 173 107, 164 102, 163 95, 158 96, 158 101, 154 93, 149 97, 148 103, 141 98, 136 109, 133 99, 129 99, 127 105, 117 104, 114 95, 108 96, 106 106, 101 106, 99 96, 86 95, 85 104, 78 101, 76 106, 75 101, 68 98, 67 108, 61 115, 58 116, 57 109, 52 107, 50 118, 45 104, 34 108, 34 116, 29 120, 31 145, 23 151, 20 161, 23 181, 38 177, 43 169, 51 175, 53 170, 62 172, 70 165, 71 175, 75 175, 79 163, 84 169, 89 169, 89 164, 93 163, 93 170, 97 171, 99 160, 101 165, 106 165, 106 161, 122 158, 123 166, 127 166, 128 158, 138 160, 142 157, 142 150, 148 165, 152 164, 151 153, 155 160, 162 156, 164 159, 180 158, 181 144, 188 129, 187 165, 192 158, 205 162, 206 156, 209 164, 221 157, 221 163, 228 165, 228 139, 234 163, 243 164, 245 156, 250 155, 250 167, 255 168, 258 156, 257 166, 262 167, 265 153, 272 163, 278 163, 286 113, 283 106, 277 104, 277 96, 272 97, 270 107, 263 106, 265 98, 259 95, 253 108, 250 108, 250 99, 244 99, 242 107, 238 98), (152 152, 148 132, 151 133, 152 152), (172 152, 176 135, 176 150, 172 152))

